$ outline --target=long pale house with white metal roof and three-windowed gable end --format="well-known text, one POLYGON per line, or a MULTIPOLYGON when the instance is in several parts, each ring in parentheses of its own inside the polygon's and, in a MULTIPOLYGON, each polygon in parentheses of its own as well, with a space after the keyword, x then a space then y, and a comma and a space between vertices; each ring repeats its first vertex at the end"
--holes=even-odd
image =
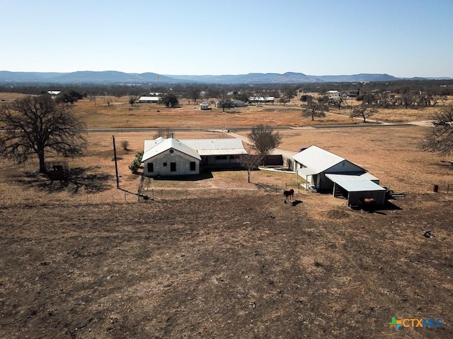
POLYGON ((246 154, 240 138, 175 139, 144 141, 144 175, 147 177, 199 174, 204 169, 241 167, 246 154))

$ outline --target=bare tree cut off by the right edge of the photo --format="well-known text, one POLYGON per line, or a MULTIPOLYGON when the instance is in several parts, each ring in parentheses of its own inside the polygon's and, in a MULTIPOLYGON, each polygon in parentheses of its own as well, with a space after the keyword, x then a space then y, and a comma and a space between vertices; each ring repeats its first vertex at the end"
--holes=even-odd
POLYGON ((435 113, 432 128, 422 141, 425 152, 447 156, 453 153, 453 106, 445 106, 435 113))

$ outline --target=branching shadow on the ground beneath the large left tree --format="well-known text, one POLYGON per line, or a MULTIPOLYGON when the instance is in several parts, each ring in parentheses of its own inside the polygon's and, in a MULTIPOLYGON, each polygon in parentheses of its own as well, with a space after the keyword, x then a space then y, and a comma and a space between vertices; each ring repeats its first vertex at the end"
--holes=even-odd
POLYGON ((75 167, 62 179, 52 180, 45 174, 32 172, 16 180, 21 186, 40 189, 47 193, 69 192, 71 194, 94 194, 113 187, 113 174, 96 172, 100 167, 75 167))

